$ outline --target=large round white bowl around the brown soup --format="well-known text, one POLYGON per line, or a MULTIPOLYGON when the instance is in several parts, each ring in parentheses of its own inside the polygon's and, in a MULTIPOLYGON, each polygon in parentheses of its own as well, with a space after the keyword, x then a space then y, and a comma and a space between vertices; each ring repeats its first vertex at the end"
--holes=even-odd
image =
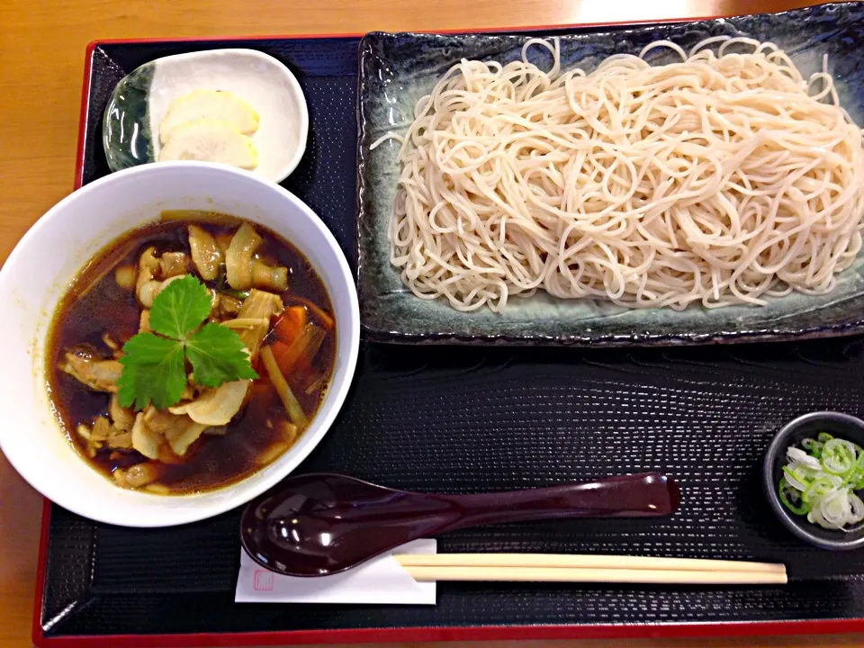
POLYGON ((86 185, 27 232, 0 270, 0 449, 33 488, 78 515, 126 527, 168 527, 234 509, 274 486, 318 445, 345 401, 357 360, 354 280, 336 239, 292 193, 246 171, 203 162, 136 166, 86 185), (165 209, 221 211, 289 240, 327 288, 337 329, 336 367, 320 410, 300 440, 265 469, 217 491, 160 496, 115 486, 77 455, 46 390, 49 324, 82 266, 165 209))

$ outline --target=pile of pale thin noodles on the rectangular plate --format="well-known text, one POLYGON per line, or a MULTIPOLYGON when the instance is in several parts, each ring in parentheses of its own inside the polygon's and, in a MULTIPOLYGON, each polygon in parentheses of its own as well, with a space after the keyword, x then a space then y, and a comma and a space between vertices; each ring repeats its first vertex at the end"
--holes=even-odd
POLYGON ((562 73, 557 40, 522 59, 462 60, 399 138, 391 261, 418 297, 762 304, 832 290, 858 254, 861 130, 826 72, 806 80, 775 45, 725 37, 657 41, 590 74, 562 73), (658 48, 681 62, 649 65, 658 48))

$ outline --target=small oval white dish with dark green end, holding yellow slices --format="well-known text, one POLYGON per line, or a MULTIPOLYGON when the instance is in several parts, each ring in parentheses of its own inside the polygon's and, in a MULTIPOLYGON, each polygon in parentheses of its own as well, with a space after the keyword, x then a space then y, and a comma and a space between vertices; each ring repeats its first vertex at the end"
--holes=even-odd
POLYGON ((206 156, 222 155, 232 166, 279 183, 300 164, 308 134, 309 111, 297 79, 255 49, 211 49, 145 63, 121 79, 103 115, 103 147, 112 171, 157 162, 169 146, 172 159, 219 161, 206 156), (252 127, 235 130, 224 105, 194 101, 202 94, 230 97, 221 103, 240 104, 252 127), (200 112, 208 105, 217 119, 200 112), (186 121, 166 133, 167 123, 176 121, 165 119, 169 110, 172 116, 184 113, 186 121), (206 119, 194 119, 199 115, 206 119), (182 131, 180 145, 174 133, 182 131))

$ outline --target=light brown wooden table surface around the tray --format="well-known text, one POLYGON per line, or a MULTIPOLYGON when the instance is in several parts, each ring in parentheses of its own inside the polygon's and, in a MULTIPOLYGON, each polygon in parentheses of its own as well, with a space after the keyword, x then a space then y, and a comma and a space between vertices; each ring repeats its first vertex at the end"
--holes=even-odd
MULTIPOLYGON (((107 38, 434 31, 772 12, 806 0, 63 0, 0 2, 0 261, 72 189, 85 46, 107 38)), ((0 648, 30 645, 41 499, 0 455, 0 648)), ((648 646, 864 645, 864 635, 630 641, 648 646)), ((443 644, 439 644, 443 645, 443 644)), ((466 644, 461 644, 466 645, 466 644)), ((513 642, 491 647, 620 642, 513 642)))

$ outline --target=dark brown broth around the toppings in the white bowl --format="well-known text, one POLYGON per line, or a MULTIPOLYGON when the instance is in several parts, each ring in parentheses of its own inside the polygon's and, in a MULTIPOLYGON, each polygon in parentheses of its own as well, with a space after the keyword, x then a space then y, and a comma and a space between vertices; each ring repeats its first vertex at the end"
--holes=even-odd
MULTIPOLYGON (((140 306, 135 300, 134 292, 124 291, 116 283, 113 268, 124 263, 137 266, 139 256, 149 246, 157 247, 159 254, 167 251, 188 253, 186 229, 192 222, 209 230, 213 235, 233 232, 240 222, 224 214, 204 215, 200 212, 189 212, 189 215, 190 218, 186 220, 176 220, 180 214, 172 212, 172 220, 137 229, 105 247, 76 278, 51 322, 49 352, 46 354, 49 363, 46 374, 49 376, 51 400, 58 412, 60 423, 66 429, 67 437, 76 446, 78 453, 109 477, 115 468, 127 468, 144 461, 144 457, 132 452, 112 460, 109 456, 111 453, 106 450, 100 451, 94 458, 87 456, 85 444, 77 435, 76 427, 82 423, 89 426, 94 417, 106 415, 109 394, 88 390, 75 378, 60 371, 58 362, 67 349, 80 347, 82 344, 93 347, 104 357, 110 357, 112 349, 103 343, 103 333, 111 333, 114 339, 123 344, 138 332, 140 306), (103 275, 101 279, 100 275, 103 275)), ((324 286, 302 254, 271 230, 258 224, 254 224, 254 227, 265 240, 257 256, 275 265, 288 267, 288 293, 283 295, 285 305, 291 305, 288 295, 293 294, 332 314, 333 309, 324 286)), ((316 321, 311 314, 310 320, 316 321)), ((329 331, 312 367, 313 373, 323 375, 324 380, 311 394, 307 394, 302 388, 293 389, 310 419, 318 410, 329 387, 335 351, 336 331, 329 331)), ((259 370, 258 374, 263 376, 265 372, 259 370)), ((238 482, 264 467, 259 457, 265 455, 276 443, 284 441, 279 426, 268 428, 266 421, 269 419, 276 423, 280 419, 286 419, 278 398, 268 399, 267 403, 266 407, 262 408, 254 399, 249 400, 238 416, 231 420, 225 436, 202 435, 190 447, 183 463, 162 464, 157 483, 167 486, 172 493, 211 491, 231 482, 238 482)))

